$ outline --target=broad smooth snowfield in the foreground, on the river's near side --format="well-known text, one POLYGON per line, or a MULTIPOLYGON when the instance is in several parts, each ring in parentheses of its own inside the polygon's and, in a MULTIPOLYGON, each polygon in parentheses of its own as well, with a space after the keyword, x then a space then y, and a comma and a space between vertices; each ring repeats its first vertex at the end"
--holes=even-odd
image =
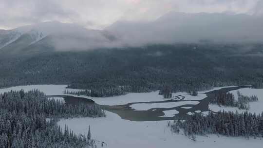
POLYGON ((87 135, 91 126, 92 138, 107 143, 107 148, 261 148, 263 140, 241 137, 197 136, 196 142, 181 134, 172 134, 167 121, 136 122, 121 119, 118 115, 106 111, 105 118, 63 119, 57 124, 65 124, 75 133, 87 135))

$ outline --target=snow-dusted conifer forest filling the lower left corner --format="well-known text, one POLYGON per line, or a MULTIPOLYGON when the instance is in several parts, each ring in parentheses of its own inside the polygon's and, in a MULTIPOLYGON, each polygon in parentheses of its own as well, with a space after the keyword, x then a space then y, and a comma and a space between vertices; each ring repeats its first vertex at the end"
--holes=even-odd
POLYGON ((67 126, 62 130, 56 125, 59 117, 77 116, 105 113, 99 106, 78 107, 48 99, 38 90, 4 92, 0 94, 0 148, 94 148, 90 131, 76 135, 67 126))

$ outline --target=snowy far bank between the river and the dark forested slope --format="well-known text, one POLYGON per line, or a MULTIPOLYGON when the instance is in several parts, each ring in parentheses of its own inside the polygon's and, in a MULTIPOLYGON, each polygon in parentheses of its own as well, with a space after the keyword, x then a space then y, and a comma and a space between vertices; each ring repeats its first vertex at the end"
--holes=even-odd
MULTIPOLYGON (((131 102, 151 102, 151 101, 164 101, 169 99, 164 99, 162 95, 159 95, 159 91, 155 92, 143 92, 143 93, 128 93, 126 95, 120 95, 120 96, 113 96, 113 97, 89 97, 85 95, 74 95, 74 94, 64 94, 64 91, 74 92, 74 91, 82 91, 78 89, 66 89, 68 85, 27 85, 27 86, 15 86, 10 88, 4 88, 0 89, 0 93, 8 92, 8 91, 19 91, 23 89, 25 92, 28 92, 33 89, 38 89, 41 92, 44 92, 46 95, 69 95, 69 96, 75 96, 75 97, 83 97, 92 99, 94 102, 100 105, 124 105, 131 102)), ((219 90, 221 88, 227 88, 227 87, 216 87, 212 90, 219 90)), ((209 91, 212 91, 209 90, 209 91)), ((197 96, 191 96, 187 92, 176 92, 172 93, 172 96, 178 96, 182 95, 185 96, 184 100, 202 100, 205 97, 207 97, 206 94, 203 94, 205 92, 209 91, 203 91, 198 92, 199 94, 197 96)), ((182 98, 180 96, 180 98, 182 98)), ((174 98, 171 98, 174 99, 174 98)))

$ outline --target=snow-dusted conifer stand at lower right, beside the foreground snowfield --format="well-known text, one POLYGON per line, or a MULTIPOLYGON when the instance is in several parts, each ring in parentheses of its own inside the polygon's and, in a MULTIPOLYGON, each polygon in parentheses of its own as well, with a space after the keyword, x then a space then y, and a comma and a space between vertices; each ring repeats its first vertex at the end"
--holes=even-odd
POLYGON ((263 137, 263 112, 244 113, 210 111, 207 116, 200 113, 190 115, 185 121, 175 120, 174 123, 168 122, 172 132, 183 133, 190 139, 195 140, 195 135, 221 134, 224 136, 245 138, 263 137))

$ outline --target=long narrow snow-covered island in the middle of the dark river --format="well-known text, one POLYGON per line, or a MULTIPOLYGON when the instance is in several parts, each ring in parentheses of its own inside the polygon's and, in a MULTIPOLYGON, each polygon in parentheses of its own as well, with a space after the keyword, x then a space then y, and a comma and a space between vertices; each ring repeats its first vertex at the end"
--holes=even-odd
POLYGON ((147 111, 153 108, 174 108, 182 105, 196 105, 198 101, 180 101, 180 102, 166 102, 166 103, 137 103, 132 104, 130 107, 137 111, 147 111))

